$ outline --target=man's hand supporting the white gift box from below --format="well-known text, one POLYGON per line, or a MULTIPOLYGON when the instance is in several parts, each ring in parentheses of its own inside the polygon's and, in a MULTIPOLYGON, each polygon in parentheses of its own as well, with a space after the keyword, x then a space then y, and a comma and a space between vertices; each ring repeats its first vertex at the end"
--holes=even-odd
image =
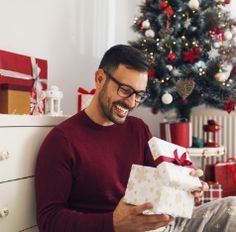
POLYGON ((163 214, 144 215, 143 211, 152 209, 151 203, 138 206, 120 200, 113 213, 115 232, 144 232, 168 225, 173 218, 163 214))

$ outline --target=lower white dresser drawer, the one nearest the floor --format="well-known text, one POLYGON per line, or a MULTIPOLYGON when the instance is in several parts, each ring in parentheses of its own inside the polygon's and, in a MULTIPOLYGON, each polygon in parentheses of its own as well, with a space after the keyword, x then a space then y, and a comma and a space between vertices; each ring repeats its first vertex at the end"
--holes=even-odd
POLYGON ((5 212, 0 217, 2 232, 22 231, 36 225, 34 193, 34 178, 0 184, 0 212, 5 212))

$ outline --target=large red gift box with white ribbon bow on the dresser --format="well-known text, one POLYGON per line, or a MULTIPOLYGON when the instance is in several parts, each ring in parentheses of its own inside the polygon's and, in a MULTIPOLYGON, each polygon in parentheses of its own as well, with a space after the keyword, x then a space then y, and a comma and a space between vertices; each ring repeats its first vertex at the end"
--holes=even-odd
POLYGON ((0 50, 0 84, 31 87, 39 94, 47 88, 47 61, 0 50))

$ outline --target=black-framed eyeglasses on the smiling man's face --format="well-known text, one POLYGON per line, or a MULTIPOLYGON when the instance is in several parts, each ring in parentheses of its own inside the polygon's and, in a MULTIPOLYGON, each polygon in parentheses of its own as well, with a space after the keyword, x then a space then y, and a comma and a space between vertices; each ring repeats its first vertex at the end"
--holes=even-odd
POLYGON ((110 74, 108 71, 106 71, 104 69, 103 69, 103 71, 109 79, 111 79, 112 81, 114 81, 118 85, 118 88, 117 88, 118 96, 123 97, 123 98, 128 98, 135 93, 135 102, 136 103, 142 103, 149 97, 149 94, 146 91, 136 91, 131 86, 122 84, 121 82, 116 80, 116 78, 113 77, 112 74, 110 74))

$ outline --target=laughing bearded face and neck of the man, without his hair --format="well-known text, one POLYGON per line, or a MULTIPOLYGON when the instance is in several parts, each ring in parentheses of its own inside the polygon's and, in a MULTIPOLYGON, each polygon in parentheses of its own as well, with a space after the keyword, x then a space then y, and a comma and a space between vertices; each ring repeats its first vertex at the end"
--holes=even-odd
POLYGON ((148 96, 147 70, 138 71, 124 64, 113 69, 102 67, 96 72, 97 94, 85 110, 94 122, 103 126, 124 123, 129 112, 148 96))

